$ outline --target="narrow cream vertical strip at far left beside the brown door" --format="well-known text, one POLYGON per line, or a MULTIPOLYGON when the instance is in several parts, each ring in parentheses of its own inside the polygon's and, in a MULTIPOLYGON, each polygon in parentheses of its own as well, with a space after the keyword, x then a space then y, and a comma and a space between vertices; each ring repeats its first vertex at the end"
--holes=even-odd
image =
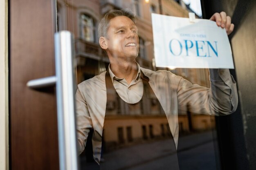
POLYGON ((8 1, 0 0, 0 169, 9 169, 8 1))

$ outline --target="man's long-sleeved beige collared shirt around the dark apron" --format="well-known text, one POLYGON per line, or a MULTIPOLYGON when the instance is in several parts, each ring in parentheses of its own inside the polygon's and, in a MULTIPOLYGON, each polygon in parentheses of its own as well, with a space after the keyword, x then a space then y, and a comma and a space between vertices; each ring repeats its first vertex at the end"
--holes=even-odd
MULTIPOLYGON (((149 84, 158 98, 171 129, 176 147, 178 143, 178 110, 190 108, 192 113, 207 115, 228 115, 238 105, 236 82, 228 69, 211 69, 211 88, 191 84, 169 71, 151 71, 138 65, 135 80, 127 84, 125 79, 110 76, 119 96, 128 103, 138 102, 143 95, 140 70, 149 78, 149 84)), ((85 80, 76 92, 77 138, 79 154, 83 152, 90 129, 102 136, 106 111, 106 71, 85 80)), ((101 141, 92 141, 94 158, 100 159, 101 141)))

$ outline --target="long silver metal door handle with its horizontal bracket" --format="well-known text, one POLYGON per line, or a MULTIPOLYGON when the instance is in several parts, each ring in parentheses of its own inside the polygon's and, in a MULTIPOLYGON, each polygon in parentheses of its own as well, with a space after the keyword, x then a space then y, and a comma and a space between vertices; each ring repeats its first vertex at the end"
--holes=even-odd
POLYGON ((54 35, 56 75, 27 82, 30 88, 43 88, 56 84, 58 115, 58 150, 60 170, 77 170, 75 126, 75 55, 74 38, 69 31, 54 35))

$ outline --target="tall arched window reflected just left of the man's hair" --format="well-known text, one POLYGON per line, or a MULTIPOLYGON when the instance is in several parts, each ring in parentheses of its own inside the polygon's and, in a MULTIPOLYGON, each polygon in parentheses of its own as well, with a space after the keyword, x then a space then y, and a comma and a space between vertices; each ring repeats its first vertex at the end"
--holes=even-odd
POLYGON ((95 23, 92 17, 86 14, 81 14, 80 23, 81 38, 89 42, 95 42, 95 23))

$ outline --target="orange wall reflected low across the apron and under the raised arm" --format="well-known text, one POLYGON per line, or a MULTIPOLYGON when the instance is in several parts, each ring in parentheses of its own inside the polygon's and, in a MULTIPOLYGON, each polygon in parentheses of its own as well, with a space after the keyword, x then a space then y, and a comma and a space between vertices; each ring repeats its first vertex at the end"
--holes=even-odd
MULTIPOLYGON (((119 144, 118 128, 122 128, 124 144, 138 143, 148 139, 162 139, 168 136, 169 128, 168 121, 165 115, 108 115, 105 118, 103 130, 104 141, 112 143, 112 145, 119 144), (146 127, 147 139, 143 139, 142 126, 146 127), (150 137, 149 126, 152 126, 153 138, 150 137), (162 127, 163 126, 163 130, 162 127), (132 141, 128 141, 127 128, 130 127, 132 131, 132 141), (164 135, 163 135, 164 134, 164 135)), ((193 131, 210 130, 215 127, 214 117, 208 115, 193 115, 192 116, 193 131)), ((188 117, 186 115, 179 116, 179 131, 180 133, 190 132, 188 117)))

